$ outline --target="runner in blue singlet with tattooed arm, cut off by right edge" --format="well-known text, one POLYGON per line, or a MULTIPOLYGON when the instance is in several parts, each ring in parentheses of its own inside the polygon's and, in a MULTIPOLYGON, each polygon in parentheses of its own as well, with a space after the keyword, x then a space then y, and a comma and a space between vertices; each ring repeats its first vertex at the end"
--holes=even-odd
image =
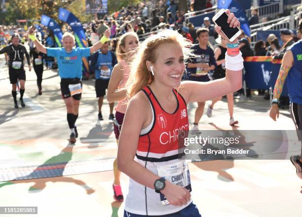
MULTIPOLYGON (((302 19, 299 22, 297 32, 298 37, 301 39, 302 19)), ((288 47, 282 58, 269 113, 269 116, 274 121, 279 118, 278 101, 286 78, 291 103, 290 112, 297 130, 298 139, 301 141, 301 155, 291 156, 291 162, 296 167, 298 177, 302 179, 302 40, 288 47)))

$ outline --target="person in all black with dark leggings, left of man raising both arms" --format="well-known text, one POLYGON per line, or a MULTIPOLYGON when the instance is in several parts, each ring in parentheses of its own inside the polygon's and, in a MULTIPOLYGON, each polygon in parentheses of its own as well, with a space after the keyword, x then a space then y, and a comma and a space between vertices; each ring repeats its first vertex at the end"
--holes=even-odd
POLYGON ((39 52, 36 47, 30 50, 30 57, 33 58, 33 66, 37 75, 38 94, 42 94, 42 76, 43 76, 43 57, 44 54, 39 52))

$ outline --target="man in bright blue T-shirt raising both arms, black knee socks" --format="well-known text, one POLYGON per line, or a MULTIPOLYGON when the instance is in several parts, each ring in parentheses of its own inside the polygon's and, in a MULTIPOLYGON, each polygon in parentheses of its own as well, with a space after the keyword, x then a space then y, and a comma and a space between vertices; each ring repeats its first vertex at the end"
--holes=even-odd
POLYGON ((29 38, 34 42, 37 49, 47 54, 47 56, 56 57, 58 61, 62 98, 67 108, 67 121, 71 130, 70 142, 75 143, 77 137, 75 123, 82 93, 82 57, 90 56, 93 52, 99 50, 105 42, 109 41, 110 30, 105 31, 103 38, 98 43, 84 48, 74 48, 75 37, 71 33, 64 33, 63 47, 45 47, 37 40, 34 31, 35 27, 29 29, 29 38))

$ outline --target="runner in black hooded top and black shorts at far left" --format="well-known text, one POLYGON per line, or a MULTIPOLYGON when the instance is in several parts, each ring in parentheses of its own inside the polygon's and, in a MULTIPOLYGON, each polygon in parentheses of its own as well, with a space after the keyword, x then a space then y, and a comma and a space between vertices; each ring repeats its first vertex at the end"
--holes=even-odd
POLYGON ((20 81, 20 102, 21 106, 25 107, 25 103, 23 101, 23 94, 25 92, 25 70, 24 70, 24 54, 27 59, 27 63, 29 66, 29 71, 32 71, 30 56, 26 51, 25 46, 20 43, 20 38, 18 33, 14 33, 11 36, 11 44, 7 45, 3 49, 0 50, 0 54, 7 53, 8 55, 8 74, 9 81, 12 85, 11 94, 14 98, 14 107, 19 108, 17 102, 17 91, 16 91, 16 83, 19 79, 20 81))

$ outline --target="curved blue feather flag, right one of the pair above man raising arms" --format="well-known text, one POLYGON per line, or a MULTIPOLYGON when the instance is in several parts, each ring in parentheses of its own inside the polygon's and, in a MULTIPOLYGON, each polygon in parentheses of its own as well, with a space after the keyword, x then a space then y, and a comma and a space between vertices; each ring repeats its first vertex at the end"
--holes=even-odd
MULTIPOLYGON (((76 46, 77 47, 87 47, 88 43, 86 41, 85 32, 82 24, 77 19, 77 17, 70 11, 60 8, 59 9, 59 19, 68 23, 72 30, 74 31, 76 46)), ((82 58, 83 61, 83 74, 89 73, 89 65, 87 57, 82 58)))

